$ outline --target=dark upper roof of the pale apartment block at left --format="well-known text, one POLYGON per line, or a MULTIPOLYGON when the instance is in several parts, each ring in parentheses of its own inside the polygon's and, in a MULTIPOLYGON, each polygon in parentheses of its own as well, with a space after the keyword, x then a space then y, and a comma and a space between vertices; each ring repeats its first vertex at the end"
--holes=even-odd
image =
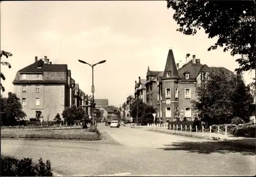
POLYGON ((20 73, 41 73, 41 72, 67 72, 68 65, 67 64, 47 64, 42 61, 42 59, 34 62, 27 67, 19 70, 20 73), (37 68, 41 66, 41 69, 37 68))

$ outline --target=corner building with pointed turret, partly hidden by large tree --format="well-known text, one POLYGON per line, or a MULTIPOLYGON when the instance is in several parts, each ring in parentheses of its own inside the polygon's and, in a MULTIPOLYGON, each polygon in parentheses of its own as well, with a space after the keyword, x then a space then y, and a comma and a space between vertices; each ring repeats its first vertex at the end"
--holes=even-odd
POLYGON ((196 113, 192 110, 191 100, 196 100, 196 84, 207 80, 209 72, 220 69, 201 64, 196 55, 177 68, 179 64, 176 65, 173 50, 169 49, 165 69, 155 78, 158 88, 157 115, 162 122, 183 120, 184 117, 194 120, 196 113), (176 109, 179 110, 179 117, 174 115, 176 109))

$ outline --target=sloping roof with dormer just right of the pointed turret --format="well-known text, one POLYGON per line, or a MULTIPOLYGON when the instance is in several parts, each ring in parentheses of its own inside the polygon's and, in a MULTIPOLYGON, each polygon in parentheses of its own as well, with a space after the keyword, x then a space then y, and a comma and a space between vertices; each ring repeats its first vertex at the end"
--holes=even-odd
MULTIPOLYGON (((204 64, 206 65, 206 64, 204 64)), ((189 79, 196 79, 200 73, 200 69, 207 68, 207 65, 202 67, 203 65, 199 62, 196 64, 193 63, 193 60, 190 60, 188 63, 184 64, 182 68, 178 70, 179 77, 181 79, 185 79, 185 72, 189 72, 189 79)))

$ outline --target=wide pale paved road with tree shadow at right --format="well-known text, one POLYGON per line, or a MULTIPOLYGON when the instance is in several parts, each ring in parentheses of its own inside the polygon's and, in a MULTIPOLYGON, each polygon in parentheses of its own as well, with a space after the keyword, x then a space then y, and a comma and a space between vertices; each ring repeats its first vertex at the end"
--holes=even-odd
POLYGON ((255 149, 123 126, 98 128, 101 141, 1 140, 1 153, 49 159, 63 176, 255 175, 255 149))

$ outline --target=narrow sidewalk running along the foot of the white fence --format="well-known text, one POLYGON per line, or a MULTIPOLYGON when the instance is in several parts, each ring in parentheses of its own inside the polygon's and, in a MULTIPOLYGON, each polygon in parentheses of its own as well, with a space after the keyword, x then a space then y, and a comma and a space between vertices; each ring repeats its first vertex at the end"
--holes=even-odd
MULTIPOLYGON (((126 126, 126 125, 125 125, 126 126)), ((233 145, 233 146, 246 146, 249 148, 255 148, 256 139, 255 138, 246 138, 246 137, 234 137, 232 135, 227 135, 227 137, 223 134, 218 134, 216 132, 190 132, 188 131, 180 131, 180 130, 169 130, 166 127, 150 127, 147 126, 132 126, 128 125, 127 127, 131 128, 138 128, 140 130, 146 131, 155 131, 155 132, 162 132, 164 134, 171 134, 171 135, 180 135, 180 136, 187 136, 187 137, 195 137, 195 138, 202 138, 208 140, 219 140, 225 143, 226 145, 233 145)))

